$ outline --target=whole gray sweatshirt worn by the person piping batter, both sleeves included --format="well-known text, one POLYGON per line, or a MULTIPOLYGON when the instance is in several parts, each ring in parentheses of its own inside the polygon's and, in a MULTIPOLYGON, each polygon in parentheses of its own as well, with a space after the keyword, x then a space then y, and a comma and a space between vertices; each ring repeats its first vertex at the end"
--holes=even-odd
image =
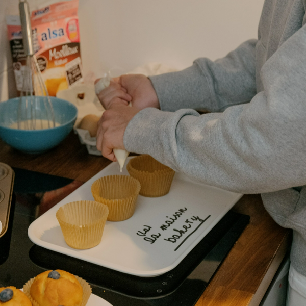
POLYGON ((124 145, 195 181, 261 193, 274 220, 293 229, 291 262, 306 276, 305 9, 306 0, 266 0, 258 40, 151 77, 161 110, 140 111, 124 145))

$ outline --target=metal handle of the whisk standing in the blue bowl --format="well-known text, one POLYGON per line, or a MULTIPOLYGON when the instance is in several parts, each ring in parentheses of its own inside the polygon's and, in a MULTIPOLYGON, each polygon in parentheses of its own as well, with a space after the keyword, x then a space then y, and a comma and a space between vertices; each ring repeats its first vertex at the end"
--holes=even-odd
POLYGON ((19 13, 24 53, 25 55, 32 56, 34 55, 32 43, 32 28, 30 19, 30 9, 27 1, 19 2, 19 13))

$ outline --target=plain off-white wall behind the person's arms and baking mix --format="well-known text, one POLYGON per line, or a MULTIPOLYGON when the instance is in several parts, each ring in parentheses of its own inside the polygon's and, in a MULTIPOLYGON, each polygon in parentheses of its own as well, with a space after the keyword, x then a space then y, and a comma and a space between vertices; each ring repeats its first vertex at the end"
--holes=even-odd
MULTIPOLYGON (((30 9, 56 0, 28 0, 30 9)), ((79 0, 85 74, 123 72, 149 62, 183 69, 198 57, 225 56, 257 37, 264 0, 79 0)), ((16 94, 6 14, 18 0, 0 0, 0 101, 16 94)))

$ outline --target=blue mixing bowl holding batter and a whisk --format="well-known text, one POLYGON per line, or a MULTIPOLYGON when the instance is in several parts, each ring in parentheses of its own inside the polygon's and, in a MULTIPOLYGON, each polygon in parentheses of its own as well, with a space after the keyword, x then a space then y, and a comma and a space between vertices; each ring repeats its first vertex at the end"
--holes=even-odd
MULTIPOLYGON (((42 99, 42 97, 36 97, 42 99)), ((45 152, 62 142, 70 133, 78 116, 72 103, 50 97, 55 122, 60 126, 44 130, 18 130, 10 126, 17 122, 19 98, 0 103, 0 138, 13 148, 30 154, 45 152)), ((41 104, 43 106, 43 104, 41 104)), ((43 109, 42 109, 42 113, 43 109)))

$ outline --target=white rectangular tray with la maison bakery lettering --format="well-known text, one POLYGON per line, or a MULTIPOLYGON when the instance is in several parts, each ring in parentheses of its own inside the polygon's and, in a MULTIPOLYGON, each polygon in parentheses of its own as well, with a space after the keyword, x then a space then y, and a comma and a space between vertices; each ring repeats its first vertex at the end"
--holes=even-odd
MULTIPOLYGON (((99 245, 86 250, 69 247, 55 216, 57 210, 71 201, 94 200, 92 183, 111 174, 120 174, 118 163, 111 163, 36 219, 29 227, 29 238, 46 249, 120 272, 157 276, 176 267, 242 196, 175 173, 168 194, 139 195, 130 219, 107 221, 99 245)), ((129 175, 125 167, 121 174, 129 175)))

